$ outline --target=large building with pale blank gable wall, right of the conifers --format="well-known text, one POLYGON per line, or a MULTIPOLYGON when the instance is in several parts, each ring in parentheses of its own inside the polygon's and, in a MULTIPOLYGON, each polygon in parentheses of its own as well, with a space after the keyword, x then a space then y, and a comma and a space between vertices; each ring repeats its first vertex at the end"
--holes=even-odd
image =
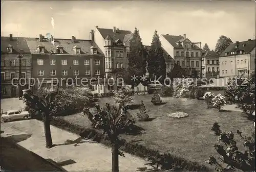
POLYGON ((183 68, 187 68, 192 75, 193 70, 201 76, 202 70, 202 49, 201 42, 191 42, 184 36, 160 35, 160 41, 163 49, 173 57, 175 63, 183 68), (200 44, 200 47, 197 46, 200 44))

